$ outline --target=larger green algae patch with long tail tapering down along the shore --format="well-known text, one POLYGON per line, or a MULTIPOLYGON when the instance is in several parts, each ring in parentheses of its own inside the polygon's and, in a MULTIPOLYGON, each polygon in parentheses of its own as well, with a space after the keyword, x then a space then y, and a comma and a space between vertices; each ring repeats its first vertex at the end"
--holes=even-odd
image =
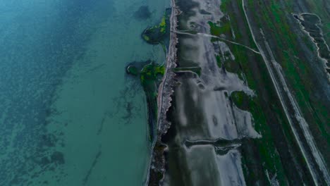
POLYGON ((149 140, 153 142, 157 135, 157 90, 161 77, 165 73, 165 66, 154 63, 154 61, 147 61, 145 63, 147 64, 140 68, 130 65, 126 68, 126 72, 140 78, 141 85, 147 98, 149 140))

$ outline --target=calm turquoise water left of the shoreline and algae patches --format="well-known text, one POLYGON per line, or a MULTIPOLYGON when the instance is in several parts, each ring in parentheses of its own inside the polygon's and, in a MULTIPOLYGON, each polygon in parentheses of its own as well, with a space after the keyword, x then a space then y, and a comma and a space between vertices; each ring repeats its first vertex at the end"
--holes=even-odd
POLYGON ((142 185, 147 107, 132 61, 168 0, 0 2, 0 185, 142 185), (135 18, 148 6, 149 18, 135 18))

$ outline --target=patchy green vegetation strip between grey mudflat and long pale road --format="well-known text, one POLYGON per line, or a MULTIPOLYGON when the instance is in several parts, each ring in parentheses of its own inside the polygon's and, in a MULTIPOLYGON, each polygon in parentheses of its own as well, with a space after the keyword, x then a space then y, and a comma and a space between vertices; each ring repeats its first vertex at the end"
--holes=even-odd
MULTIPOLYGON (((238 4, 240 5, 240 4, 238 4)), ((248 38, 243 38, 244 30, 241 30, 236 23, 238 23, 238 15, 236 15, 233 11, 228 11, 229 6, 231 6, 231 1, 224 0, 221 1, 221 11, 224 11, 225 15, 228 15, 229 18, 222 18, 219 20, 219 23, 209 23, 209 26, 211 28, 211 34, 220 36, 225 35, 226 38, 231 38, 233 40, 236 40, 236 42, 242 42, 243 40, 249 41, 250 47, 257 48, 255 46, 255 43, 252 40, 252 37, 250 35, 250 32, 245 33, 245 35, 248 36, 248 38), (234 33, 233 33, 234 32, 234 33), (233 38, 233 34, 235 35, 235 38, 233 38)), ((243 8, 240 5, 240 12, 243 15, 243 8)), ((242 19, 242 18, 240 18, 242 19)), ((242 20, 240 20, 242 21, 242 20)), ((245 21, 245 20, 244 20, 245 21)), ((245 25, 247 27, 247 23, 245 21, 245 25)), ((216 39, 212 39, 212 41, 216 41, 216 39)), ((251 52, 242 49, 238 45, 234 44, 228 44, 230 47, 233 55, 235 56, 235 60, 232 60, 231 58, 223 58, 221 54, 216 56, 218 66, 224 66, 227 71, 230 71, 232 73, 237 73, 242 80, 245 80, 247 82, 247 85, 251 89, 257 90, 258 80, 256 80, 256 75, 253 74, 253 71, 250 70, 250 62, 249 62, 249 55, 251 52), (243 78, 244 77, 244 78, 243 78)), ((255 54, 254 54, 255 55, 255 54)), ((262 63, 262 58, 259 56, 256 56, 258 61, 262 63)), ((267 69, 264 67, 265 72, 267 69)), ((260 74, 260 78, 264 80, 269 80, 269 77, 267 73, 260 74)), ((269 84, 270 80, 269 80, 269 84)), ((258 94, 258 92, 257 92, 258 94)), ((273 94, 269 92, 269 94, 273 94)), ((274 95, 273 95, 274 96, 274 95)), ((276 180, 279 181, 279 185, 286 185, 287 178, 286 174, 283 171, 283 165, 281 162, 281 158, 279 154, 277 153, 276 147, 274 145, 274 137, 272 137, 271 129, 269 128, 269 125, 267 124, 267 116, 265 115, 262 106, 261 106, 261 100, 259 97, 248 97, 244 92, 233 92, 231 94, 231 100, 233 101, 238 108, 250 111, 254 118, 255 122, 255 130, 260 132, 262 134, 262 138, 260 140, 255 140, 253 143, 256 144, 257 150, 259 151, 259 159, 262 162, 264 171, 267 170, 269 173, 269 176, 276 175, 276 180)), ((269 103, 270 106, 276 106, 274 104, 269 103)), ((274 108, 277 111, 281 111, 281 108, 274 108)), ((283 114, 281 112, 276 113, 279 115, 279 117, 283 117, 283 114)), ((245 179, 248 180, 259 180, 259 176, 257 173, 253 173, 252 168, 249 167, 249 161, 252 161, 254 157, 247 156, 246 154, 243 154, 243 163, 245 165, 243 166, 243 171, 245 174, 245 179)), ((263 174, 264 180, 268 180, 266 173, 263 174)))

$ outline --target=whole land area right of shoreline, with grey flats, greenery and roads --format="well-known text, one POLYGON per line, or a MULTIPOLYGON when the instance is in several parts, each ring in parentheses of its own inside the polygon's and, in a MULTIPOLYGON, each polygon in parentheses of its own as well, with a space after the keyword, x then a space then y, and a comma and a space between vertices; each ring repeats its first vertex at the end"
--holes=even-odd
POLYGON ((329 185, 329 3, 175 4, 165 165, 150 185, 329 185))

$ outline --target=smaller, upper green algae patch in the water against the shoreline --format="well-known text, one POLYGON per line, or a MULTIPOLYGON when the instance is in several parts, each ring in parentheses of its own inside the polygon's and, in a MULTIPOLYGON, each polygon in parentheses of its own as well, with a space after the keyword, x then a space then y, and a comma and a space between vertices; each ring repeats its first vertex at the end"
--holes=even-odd
POLYGON ((159 25, 148 27, 142 32, 142 39, 149 44, 163 43, 166 35, 169 35, 169 16, 169 11, 166 11, 159 25))

